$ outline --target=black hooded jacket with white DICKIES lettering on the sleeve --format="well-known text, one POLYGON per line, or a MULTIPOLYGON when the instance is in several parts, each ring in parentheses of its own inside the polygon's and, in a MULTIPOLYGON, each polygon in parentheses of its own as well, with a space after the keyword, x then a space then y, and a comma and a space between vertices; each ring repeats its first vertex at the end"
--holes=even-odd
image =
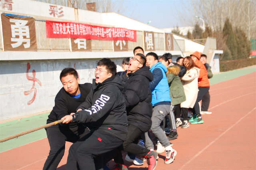
POLYGON ((77 123, 90 122, 90 129, 102 129, 109 134, 126 140, 127 115, 122 90, 124 85, 119 76, 106 79, 102 83, 95 83, 93 79, 92 90, 84 103, 76 112, 77 123))

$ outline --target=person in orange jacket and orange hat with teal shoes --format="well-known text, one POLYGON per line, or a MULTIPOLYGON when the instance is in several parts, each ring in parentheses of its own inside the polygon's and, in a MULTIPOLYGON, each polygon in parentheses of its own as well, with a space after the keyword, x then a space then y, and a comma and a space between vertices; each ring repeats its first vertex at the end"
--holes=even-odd
POLYGON ((202 119, 202 115, 200 114, 200 106, 198 102, 201 101, 204 95, 209 91, 210 82, 208 80, 207 70, 204 64, 200 61, 201 54, 198 51, 195 51, 193 54, 190 55, 190 57, 193 59, 196 66, 199 67, 200 74, 198 77, 199 91, 198 91, 196 103, 194 105, 194 108, 192 109, 193 117, 189 120, 189 122, 190 124, 201 124, 201 123, 204 123, 204 121, 202 119))

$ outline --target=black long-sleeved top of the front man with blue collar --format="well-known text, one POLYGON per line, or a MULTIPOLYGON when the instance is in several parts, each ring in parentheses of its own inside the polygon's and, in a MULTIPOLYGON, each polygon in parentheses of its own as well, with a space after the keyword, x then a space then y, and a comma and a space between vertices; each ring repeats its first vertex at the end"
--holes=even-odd
MULTIPOLYGON (((91 83, 79 84, 80 97, 78 99, 70 96, 62 87, 55 97, 55 105, 48 116, 47 124, 60 120, 70 113, 76 113, 76 108, 85 101, 87 95, 92 89, 91 83)), ((82 127, 83 125, 78 125, 77 123, 70 124, 59 124, 60 127, 70 128, 73 132, 82 127)))

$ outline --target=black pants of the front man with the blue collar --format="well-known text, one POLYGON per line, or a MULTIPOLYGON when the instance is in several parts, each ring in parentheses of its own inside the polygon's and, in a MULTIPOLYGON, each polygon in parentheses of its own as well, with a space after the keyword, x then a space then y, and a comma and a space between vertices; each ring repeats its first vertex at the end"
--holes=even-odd
POLYGON ((49 156, 44 163, 43 170, 56 170, 65 152, 65 143, 76 142, 88 134, 90 130, 86 127, 78 128, 72 132, 70 128, 54 125, 46 129, 47 138, 50 144, 49 156))

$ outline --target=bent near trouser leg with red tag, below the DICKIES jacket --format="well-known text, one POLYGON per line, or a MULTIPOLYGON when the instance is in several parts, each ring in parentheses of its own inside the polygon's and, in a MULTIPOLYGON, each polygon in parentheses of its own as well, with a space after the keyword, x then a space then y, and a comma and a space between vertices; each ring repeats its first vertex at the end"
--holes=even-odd
MULTIPOLYGON (((95 170, 94 159, 106 152, 118 148, 123 140, 104 130, 96 130, 86 139, 76 151, 76 160, 80 170, 95 170)), ((97 164, 103 166, 102 157, 97 158, 97 164)))

